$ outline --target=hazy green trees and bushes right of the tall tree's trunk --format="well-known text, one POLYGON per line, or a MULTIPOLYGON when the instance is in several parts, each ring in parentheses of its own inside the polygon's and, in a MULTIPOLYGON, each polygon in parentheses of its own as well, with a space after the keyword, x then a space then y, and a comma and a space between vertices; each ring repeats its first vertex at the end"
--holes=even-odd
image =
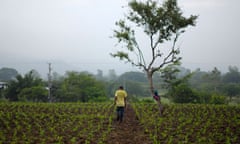
POLYGON ((227 73, 216 67, 209 72, 167 67, 162 72, 166 95, 176 103, 240 103, 240 72, 236 66, 229 66, 227 73))

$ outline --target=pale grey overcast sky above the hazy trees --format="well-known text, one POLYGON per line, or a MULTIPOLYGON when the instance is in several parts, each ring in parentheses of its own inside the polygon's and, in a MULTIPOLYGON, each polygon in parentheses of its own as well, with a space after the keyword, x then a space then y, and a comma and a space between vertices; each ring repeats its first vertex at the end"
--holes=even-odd
MULTIPOLYGON (((184 14, 199 15, 179 40, 183 66, 210 71, 240 68, 240 0, 179 0, 184 14)), ((0 68, 20 72, 138 70, 113 59, 115 22, 127 0, 0 0, 0 68), (121 69, 119 69, 121 68, 121 69)))

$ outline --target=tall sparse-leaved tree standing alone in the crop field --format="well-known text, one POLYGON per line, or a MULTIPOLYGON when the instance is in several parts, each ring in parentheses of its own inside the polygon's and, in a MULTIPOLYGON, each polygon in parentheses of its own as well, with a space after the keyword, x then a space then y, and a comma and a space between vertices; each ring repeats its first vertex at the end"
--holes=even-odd
POLYGON ((113 34, 113 38, 122 44, 124 50, 111 55, 143 69, 153 95, 153 74, 168 64, 180 62, 181 57, 178 56, 180 51, 176 47, 176 42, 185 32, 185 28, 195 26, 197 16, 184 17, 177 0, 165 0, 162 5, 153 0, 146 2, 132 0, 128 6, 129 13, 125 15, 125 19, 116 22, 119 29, 114 30, 113 34), (139 29, 149 39, 149 61, 137 41, 136 33, 139 29), (166 42, 171 42, 171 46, 161 47, 166 42))

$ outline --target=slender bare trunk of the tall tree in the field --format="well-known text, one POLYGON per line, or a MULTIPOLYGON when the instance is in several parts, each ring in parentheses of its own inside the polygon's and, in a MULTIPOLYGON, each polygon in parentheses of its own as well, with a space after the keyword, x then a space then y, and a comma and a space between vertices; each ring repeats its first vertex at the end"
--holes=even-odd
MULTIPOLYGON (((153 79, 152 79, 153 73, 148 71, 147 76, 148 76, 148 81, 149 81, 149 86, 150 86, 149 89, 150 89, 151 95, 154 96, 154 86, 153 86, 153 79)), ((160 95, 159 95, 159 100, 157 101, 157 104, 158 104, 158 108, 159 108, 159 115, 162 116, 163 106, 161 104, 161 96, 160 95)))

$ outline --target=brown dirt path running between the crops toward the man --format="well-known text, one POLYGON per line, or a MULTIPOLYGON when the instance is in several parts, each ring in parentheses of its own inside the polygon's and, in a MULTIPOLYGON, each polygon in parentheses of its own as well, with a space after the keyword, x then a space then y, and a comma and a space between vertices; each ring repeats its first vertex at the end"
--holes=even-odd
POLYGON ((122 123, 114 120, 106 144, 152 144, 131 105, 125 110, 122 123))

